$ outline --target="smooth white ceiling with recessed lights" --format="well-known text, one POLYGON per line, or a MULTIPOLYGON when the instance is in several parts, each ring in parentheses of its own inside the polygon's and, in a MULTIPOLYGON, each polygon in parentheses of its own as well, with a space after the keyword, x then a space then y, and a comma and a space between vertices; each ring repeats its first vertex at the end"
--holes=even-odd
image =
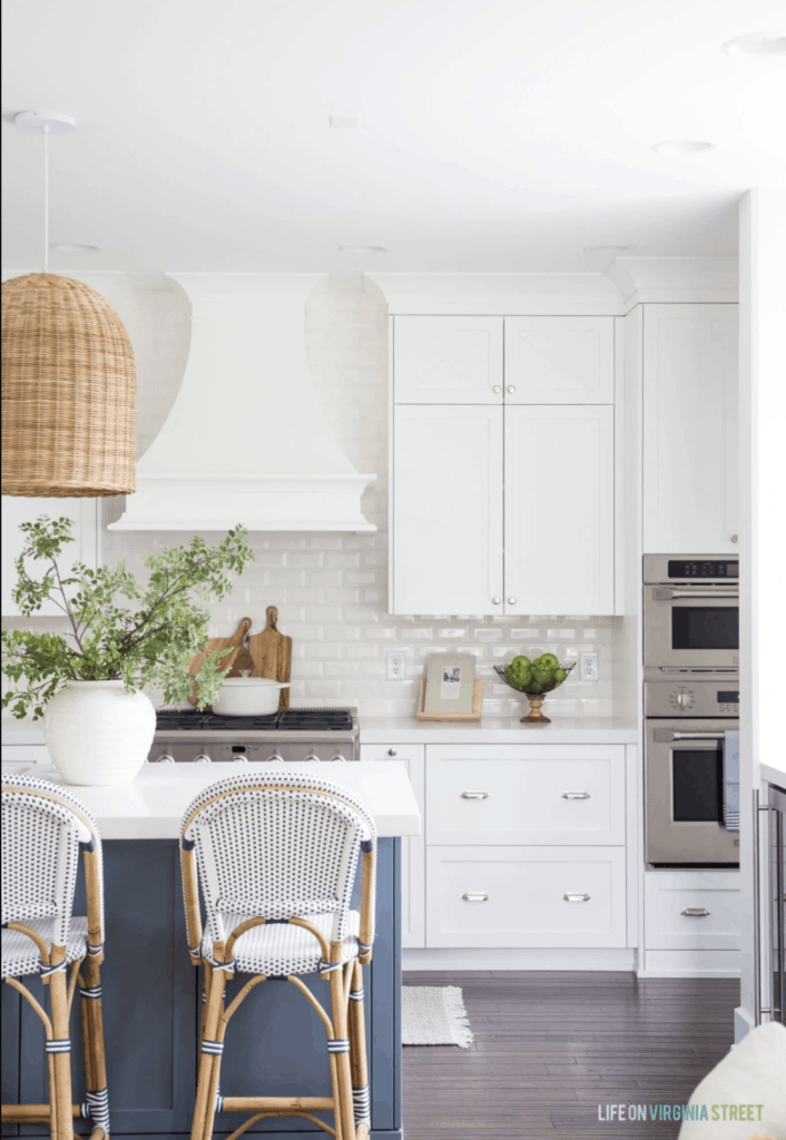
POLYGON ((7 264, 51 268, 600 270, 729 254, 736 203, 786 185, 783 0, 6 0, 7 264), (334 130, 331 113, 359 113, 334 130), (687 158, 662 139, 706 139, 687 158), (340 254, 375 244, 388 253, 340 254))

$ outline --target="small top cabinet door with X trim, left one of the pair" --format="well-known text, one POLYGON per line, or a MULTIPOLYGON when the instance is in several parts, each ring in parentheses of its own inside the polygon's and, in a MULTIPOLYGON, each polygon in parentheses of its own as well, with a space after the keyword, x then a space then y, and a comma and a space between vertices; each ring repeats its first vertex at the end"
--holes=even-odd
POLYGON ((396 317, 396 404, 502 404, 502 317, 396 317))

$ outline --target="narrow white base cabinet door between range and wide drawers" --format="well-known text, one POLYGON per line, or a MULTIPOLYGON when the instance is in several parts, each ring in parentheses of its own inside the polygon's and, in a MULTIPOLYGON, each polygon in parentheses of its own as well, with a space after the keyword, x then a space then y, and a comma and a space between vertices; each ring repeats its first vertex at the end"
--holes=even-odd
POLYGON ((402 946, 426 946, 426 748, 422 744, 360 744, 360 760, 400 760, 420 808, 420 834, 402 839, 402 946))

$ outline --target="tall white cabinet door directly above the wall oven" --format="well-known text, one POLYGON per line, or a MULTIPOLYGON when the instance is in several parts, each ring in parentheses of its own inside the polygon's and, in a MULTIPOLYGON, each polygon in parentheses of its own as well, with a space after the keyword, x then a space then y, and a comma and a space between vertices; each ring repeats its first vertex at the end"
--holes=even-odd
POLYGON ((643 549, 737 553, 736 304, 647 304, 643 549))

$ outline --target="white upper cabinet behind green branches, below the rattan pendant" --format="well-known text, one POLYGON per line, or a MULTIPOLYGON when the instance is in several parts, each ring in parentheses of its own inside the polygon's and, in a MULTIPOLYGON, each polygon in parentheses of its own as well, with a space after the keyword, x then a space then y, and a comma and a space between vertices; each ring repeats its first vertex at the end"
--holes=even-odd
MULTIPOLYGON (((24 536, 19 523, 34 522, 40 515, 48 514, 50 519, 67 518, 73 521, 72 535, 74 542, 63 548, 60 569, 70 569, 74 562, 84 562, 91 570, 98 565, 98 508, 97 499, 90 498, 26 498, 24 496, 2 496, 2 616, 17 617, 19 609, 11 598, 17 575, 14 563, 22 553, 24 536)), ((48 563, 26 560, 25 565, 31 578, 40 580, 48 563)), ((46 617, 63 616, 63 611, 50 602, 46 602, 37 614, 46 617)))

